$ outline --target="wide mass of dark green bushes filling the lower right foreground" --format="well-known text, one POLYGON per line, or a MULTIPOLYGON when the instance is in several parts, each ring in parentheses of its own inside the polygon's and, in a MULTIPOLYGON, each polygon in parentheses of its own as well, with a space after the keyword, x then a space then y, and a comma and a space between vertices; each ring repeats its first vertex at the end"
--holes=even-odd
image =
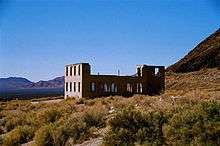
POLYGON ((220 145, 220 103, 205 101, 167 112, 128 108, 109 121, 104 144, 220 145))

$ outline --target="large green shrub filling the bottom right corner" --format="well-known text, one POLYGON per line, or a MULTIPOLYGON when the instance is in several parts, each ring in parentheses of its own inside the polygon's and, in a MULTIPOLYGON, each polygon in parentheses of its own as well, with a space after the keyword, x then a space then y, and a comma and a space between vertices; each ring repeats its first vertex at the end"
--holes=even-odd
POLYGON ((204 102, 175 114, 164 133, 168 145, 220 145, 220 104, 204 102))

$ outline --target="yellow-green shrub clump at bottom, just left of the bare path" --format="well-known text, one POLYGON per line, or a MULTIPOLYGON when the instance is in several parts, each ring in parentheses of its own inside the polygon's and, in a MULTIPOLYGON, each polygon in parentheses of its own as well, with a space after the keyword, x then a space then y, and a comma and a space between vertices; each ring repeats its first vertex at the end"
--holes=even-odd
POLYGON ((71 139, 72 144, 82 142, 90 136, 89 128, 79 116, 70 116, 60 124, 49 124, 41 127, 35 134, 37 146, 62 146, 71 139))

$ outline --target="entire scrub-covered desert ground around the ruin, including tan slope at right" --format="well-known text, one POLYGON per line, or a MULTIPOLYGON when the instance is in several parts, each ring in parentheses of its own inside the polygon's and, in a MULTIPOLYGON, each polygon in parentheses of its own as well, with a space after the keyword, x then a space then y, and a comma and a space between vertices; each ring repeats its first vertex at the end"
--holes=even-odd
POLYGON ((0 145, 71 146, 101 136, 103 145, 217 146, 218 78, 216 69, 168 73, 158 96, 0 102, 0 145))

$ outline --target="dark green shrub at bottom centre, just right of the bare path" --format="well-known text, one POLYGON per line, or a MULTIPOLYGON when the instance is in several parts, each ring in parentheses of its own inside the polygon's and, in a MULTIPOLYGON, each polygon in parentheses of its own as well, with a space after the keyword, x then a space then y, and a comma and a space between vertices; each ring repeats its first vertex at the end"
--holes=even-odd
POLYGON ((134 145, 135 143, 164 143, 162 126, 166 117, 160 112, 143 112, 128 108, 109 121, 110 132, 104 138, 105 145, 134 145))

